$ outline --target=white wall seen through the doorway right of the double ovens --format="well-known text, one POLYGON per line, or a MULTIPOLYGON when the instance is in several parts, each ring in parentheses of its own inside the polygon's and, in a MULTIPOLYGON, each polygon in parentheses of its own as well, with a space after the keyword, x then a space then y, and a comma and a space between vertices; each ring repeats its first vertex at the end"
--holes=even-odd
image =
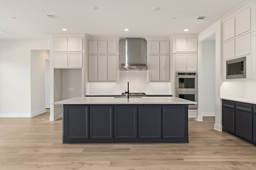
POLYGON ((202 116, 215 116, 215 35, 202 42, 202 116))

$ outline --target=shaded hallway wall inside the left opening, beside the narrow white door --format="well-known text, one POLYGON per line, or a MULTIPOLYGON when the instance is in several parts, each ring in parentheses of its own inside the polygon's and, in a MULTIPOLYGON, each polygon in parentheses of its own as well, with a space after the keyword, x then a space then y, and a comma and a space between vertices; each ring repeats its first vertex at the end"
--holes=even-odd
POLYGON ((31 50, 31 117, 44 113, 45 109, 45 59, 50 58, 49 50, 31 50))

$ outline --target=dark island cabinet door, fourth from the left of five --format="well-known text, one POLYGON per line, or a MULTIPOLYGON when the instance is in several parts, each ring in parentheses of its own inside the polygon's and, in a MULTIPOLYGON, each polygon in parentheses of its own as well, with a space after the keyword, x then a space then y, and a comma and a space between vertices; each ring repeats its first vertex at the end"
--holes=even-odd
MULTIPOLYGON (((161 106, 138 106, 138 138, 161 139, 161 106)), ((143 140, 142 140, 143 141, 143 140)), ((145 141, 146 142, 146 141, 145 141)))

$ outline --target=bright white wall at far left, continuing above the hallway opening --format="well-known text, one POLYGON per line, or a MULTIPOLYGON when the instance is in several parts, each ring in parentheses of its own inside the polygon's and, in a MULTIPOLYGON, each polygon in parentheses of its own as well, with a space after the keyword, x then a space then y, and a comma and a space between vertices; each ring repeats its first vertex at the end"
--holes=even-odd
POLYGON ((30 50, 49 50, 49 40, 0 40, 0 117, 30 117, 30 50))

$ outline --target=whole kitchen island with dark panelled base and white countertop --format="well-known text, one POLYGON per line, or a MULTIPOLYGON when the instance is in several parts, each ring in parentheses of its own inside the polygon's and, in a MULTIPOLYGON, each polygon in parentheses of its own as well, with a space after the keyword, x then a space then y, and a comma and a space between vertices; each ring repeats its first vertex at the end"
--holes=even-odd
POLYGON ((176 97, 76 97, 63 105, 62 143, 188 142, 188 104, 176 97))

